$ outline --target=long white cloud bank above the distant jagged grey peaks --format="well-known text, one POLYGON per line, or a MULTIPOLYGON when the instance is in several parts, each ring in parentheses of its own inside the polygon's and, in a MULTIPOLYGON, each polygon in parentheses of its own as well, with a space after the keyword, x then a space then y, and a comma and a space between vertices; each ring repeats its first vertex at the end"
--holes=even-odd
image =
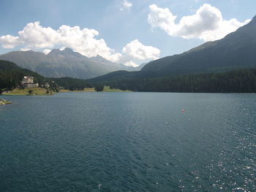
POLYGON ((82 55, 102 57, 113 61, 135 66, 136 61, 155 59, 159 50, 155 47, 145 46, 138 39, 124 46, 122 53, 108 47, 104 39, 97 39, 99 32, 94 29, 80 28, 79 26, 60 26, 54 30, 43 27, 40 23, 28 23, 18 36, 5 35, 0 37, 0 44, 4 48, 22 46, 21 50, 43 50, 48 54, 54 47, 70 47, 82 55))

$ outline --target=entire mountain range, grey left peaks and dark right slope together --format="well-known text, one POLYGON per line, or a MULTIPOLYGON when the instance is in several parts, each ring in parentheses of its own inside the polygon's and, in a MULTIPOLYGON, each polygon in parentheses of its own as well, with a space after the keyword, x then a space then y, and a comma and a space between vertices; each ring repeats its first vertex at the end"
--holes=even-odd
POLYGON ((53 49, 47 55, 32 50, 13 51, 0 55, 0 59, 12 61, 45 77, 75 77, 94 82, 250 68, 256 66, 256 16, 223 39, 206 42, 185 53, 159 58, 137 68, 113 63, 100 55, 88 58, 70 48, 53 49))

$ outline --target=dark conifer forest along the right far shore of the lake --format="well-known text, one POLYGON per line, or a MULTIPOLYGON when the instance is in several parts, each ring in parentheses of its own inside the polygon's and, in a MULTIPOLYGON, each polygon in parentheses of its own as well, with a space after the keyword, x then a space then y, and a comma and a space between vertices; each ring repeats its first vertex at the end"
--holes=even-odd
POLYGON ((110 88, 142 92, 256 93, 256 69, 212 74, 105 82, 110 88))

